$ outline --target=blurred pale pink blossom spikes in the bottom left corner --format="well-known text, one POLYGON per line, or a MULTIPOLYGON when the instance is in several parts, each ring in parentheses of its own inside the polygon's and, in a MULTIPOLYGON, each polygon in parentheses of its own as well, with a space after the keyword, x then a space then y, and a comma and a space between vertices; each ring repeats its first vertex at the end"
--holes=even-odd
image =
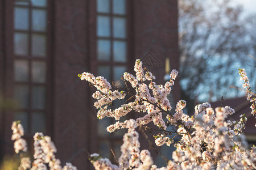
MULTIPOLYGON (((20 150, 27 151, 27 142, 21 137, 24 135, 24 130, 20 121, 13 122, 11 126, 13 130, 13 135, 11 139, 14 141, 15 152, 18 153, 20 150), (19 142, 21 139, 22 142, 19 142), (18 141, 18 142, 17 142, 18 141)), ((51 141, 51 137, 44 136, 43 133, 35 133, 34 135, 34 162, 31 166, 30 158, 21 158, 19 170, 47 170, 47 165, 50 170, 77 170, 71 163, 66 163, 62 168, 60 165, 60 160, 55 158, 55 153, 57 149, 54 143, 51 141)))

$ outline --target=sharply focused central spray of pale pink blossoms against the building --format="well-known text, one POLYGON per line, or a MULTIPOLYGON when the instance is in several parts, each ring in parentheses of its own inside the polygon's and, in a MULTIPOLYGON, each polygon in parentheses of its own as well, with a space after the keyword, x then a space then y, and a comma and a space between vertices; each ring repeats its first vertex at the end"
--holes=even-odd
MULTIPOLYGON (((110 83, 103 77, 90 73, 79 74, 81 80, 86 80, 97 88, 94 92, 93 98, 97 101, 94 106, 98 109, 97 117, 102 119, 104 117, 113 117, 115 120, 119 120, 121 117, 126 116, 131 111, 147 113, 143 117, 137 118, 137 125, 146 125, 150 122, 154 122, 156 126, 161 129, 166 129, 166 123, 163 121, 162 112, 170 112, 171 104, 167 96, 171 92, 171 86, 174 85, 174 80, 178 72, 172 70, 170 74, 170 82, 167 82, 164 86, 157 85, 153 80, 155 76, 150 71, 144 71, 142 61, 136 60, 134 65, 134 71, 136 76, 130 73, 124 73, 123 79, 131 84, 132 88, 135 88, 135 94, 133 95, 135 100, 123 104, 118 108, 110 107, 116 99, 124 99, 129 93, 127 91, 113 90, 110 83), (144 83, 145 81, 150 81, 144 83)), ((109 132, 113 132, 117 129, 124 128, 123 122, 116 122, 114 125, 108 127, 109 132)))

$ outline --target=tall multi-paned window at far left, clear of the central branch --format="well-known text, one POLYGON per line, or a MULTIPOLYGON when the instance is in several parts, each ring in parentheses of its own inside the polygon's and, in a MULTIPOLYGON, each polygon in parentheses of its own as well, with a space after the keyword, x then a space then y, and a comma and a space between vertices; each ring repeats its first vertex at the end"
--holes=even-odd
POLYGON ((46 131, 47 0, 14 2, 15 120, 26 134, 46 131))

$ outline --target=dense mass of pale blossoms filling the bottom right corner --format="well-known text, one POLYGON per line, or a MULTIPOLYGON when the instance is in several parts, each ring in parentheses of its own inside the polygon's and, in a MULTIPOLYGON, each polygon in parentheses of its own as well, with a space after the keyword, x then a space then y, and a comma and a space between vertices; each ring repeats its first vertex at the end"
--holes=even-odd
MULTIPOLYGON (((200 108, 200 105, 196 108, 200 108)), ((176 142, 177 149, 172 154, 175 163, 182 169, 254 169, 256 159, 246 150, 244 135, 231 135, 231 128, 225 121, 225 117, 232 114, 233 110, 230 107, 216 108, 214 113, 209 104, 201 108, 193 124, 195 131, 189 134, 183 126, 177 129, 182 137, 176 142), (204 120, 205 115, 210 117, 209 121, 204 120), (237 158, 238 153, 243 156, 237 158)))

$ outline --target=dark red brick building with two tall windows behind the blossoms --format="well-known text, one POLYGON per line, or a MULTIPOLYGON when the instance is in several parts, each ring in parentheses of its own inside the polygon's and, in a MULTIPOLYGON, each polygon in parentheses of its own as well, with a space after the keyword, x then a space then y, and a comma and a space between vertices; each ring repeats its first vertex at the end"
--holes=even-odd
POLYGON ((166 58, 179 69, 176 0, 0 0, 0 11, 0 97, 11 103, 0 108, 1 158, 13 153, 11 122, 21 120, 30 146, 43 131, 61 162, 90 169, 85 150, 118 152, 122 133, 102 129, 113 120, 96 120, 94 89, 77 74, 117 81, 143 58, 163 83, 166 58))

